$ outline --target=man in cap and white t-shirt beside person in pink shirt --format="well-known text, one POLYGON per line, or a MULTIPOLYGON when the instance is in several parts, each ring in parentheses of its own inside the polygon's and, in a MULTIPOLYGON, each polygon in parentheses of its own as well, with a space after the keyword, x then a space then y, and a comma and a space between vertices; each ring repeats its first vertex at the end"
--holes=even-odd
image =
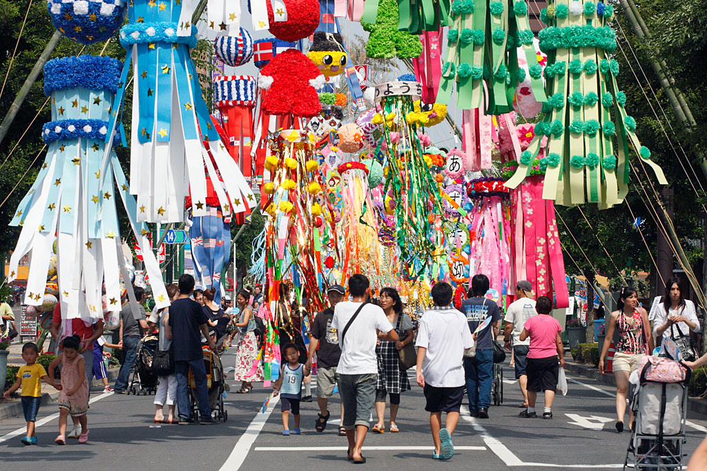
POLYGON ((506 312, 506 329, 503 340, 506 341, 506 350, 511 349, 510 336, 513 335, 513 362, 515 362, 515 378, 520 385, 523 403, 518 407, 528 407, 528 377, 525 374, 525 364, 530 348, 530 339, 520 340, 525 321, 537 314, 535 300, 532 299, 532 285, 530 281, 520 280, 515 285, 515 301, 510 303, 506 312))

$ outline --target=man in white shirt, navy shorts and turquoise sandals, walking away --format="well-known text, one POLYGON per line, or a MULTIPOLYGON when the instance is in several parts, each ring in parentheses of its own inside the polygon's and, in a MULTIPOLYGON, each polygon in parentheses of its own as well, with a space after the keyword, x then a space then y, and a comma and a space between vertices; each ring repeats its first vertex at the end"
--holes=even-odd
POLYGON ((420 320, 417 333, 417 383, 426 398, 435 451, 432 458, 448 460, 454 455, 452 434, 459 422, 464 398, 464 350, 474 346, 467 317, 450 306, 454 291, 445 282, 432 287, 435 306, 420 320), (447 412, 442 428, 442 412, 447 412))

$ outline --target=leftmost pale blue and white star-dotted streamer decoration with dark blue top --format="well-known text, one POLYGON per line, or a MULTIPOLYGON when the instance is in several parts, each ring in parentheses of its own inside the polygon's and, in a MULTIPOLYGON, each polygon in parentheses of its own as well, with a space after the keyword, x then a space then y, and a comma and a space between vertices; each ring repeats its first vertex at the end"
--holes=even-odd
MULTIPOLYGON (((115 59, 95 56, 53 59, 45 65, 45 93, 52 98, 52 121, 42 129, 47 156, 11 221, 22 231, 8 280, 17 278, 20 259, 31 253, 24 303, 46 304, 47 273, 50 280, 56 273, 56 285, 52 281, 49 289, 59 295, 63 318, 103 318, 104 288, 106 309, 121 309, 120 275, 128 275, 120 248, 117 193, 136 239, 149 246, 148 229, 138 221, 135 199, 112 150, 114 141, 105 143, 121 68, 115 59)), ((151 251, 144 252, 144 262, 156 306, 168 306, 151 251)))

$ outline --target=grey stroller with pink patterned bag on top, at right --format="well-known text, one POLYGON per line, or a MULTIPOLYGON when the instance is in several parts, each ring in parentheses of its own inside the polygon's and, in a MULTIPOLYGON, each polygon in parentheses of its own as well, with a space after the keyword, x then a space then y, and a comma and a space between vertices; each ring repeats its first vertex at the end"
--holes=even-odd
POLYGON ((647 356, 634 375, 635 421, 624 470, 682 470, 689 369, 672 359, 647 356))

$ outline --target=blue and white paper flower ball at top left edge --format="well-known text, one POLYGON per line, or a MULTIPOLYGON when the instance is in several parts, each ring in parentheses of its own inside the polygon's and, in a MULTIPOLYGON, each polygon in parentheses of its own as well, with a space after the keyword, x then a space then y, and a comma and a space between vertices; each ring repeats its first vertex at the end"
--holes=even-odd
POLYGON ((107 40, 123 24, 127 1, 124 0, 62 0, 47 1, 47 10, 54 28, 81 44, 107 40))

